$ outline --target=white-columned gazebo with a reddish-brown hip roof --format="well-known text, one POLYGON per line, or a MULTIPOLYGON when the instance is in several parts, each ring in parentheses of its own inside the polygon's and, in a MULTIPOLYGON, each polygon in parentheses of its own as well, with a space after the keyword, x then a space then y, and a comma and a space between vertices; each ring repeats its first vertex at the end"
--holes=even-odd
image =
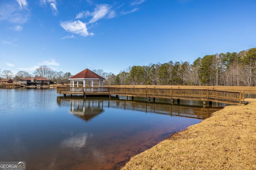
POLYGON ((76 75, 71 76, 68 80, 70 80, 70 87, 74 87, 74 82, 76 82, 77 87, 78 82, 83 82, 83 87, 86 87, 86 82, 88 83, 88 87, 93 87, 94 81, 98 81, 98 87, 103 87, 103 80, 105 78, 86 68, 76 75))

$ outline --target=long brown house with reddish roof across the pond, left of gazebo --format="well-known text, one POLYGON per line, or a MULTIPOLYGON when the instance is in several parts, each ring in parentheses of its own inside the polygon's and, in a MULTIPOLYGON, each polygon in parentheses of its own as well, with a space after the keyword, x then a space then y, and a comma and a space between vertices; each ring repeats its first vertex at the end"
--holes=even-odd
POLYGON ((51 80, 44 77, 27 77, 18 80, 19 84, 25 86, 49 86, 51 80))

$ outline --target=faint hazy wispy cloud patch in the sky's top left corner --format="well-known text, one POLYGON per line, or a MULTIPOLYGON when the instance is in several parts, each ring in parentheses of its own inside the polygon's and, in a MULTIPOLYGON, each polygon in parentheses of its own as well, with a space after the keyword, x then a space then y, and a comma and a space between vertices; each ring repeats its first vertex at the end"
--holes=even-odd
POLYGON ((25 8, 27 7, 25 2, 24 0, 20 1, 20 6, 17 3, 0 4, 0 20, 7 20, 12 23, 25 23, 28 21, 30 10, 25 8))

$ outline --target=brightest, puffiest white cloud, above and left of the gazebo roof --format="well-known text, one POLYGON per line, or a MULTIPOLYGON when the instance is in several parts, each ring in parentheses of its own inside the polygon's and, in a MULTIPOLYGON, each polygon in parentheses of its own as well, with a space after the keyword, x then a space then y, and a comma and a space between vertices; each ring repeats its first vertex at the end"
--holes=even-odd
POLYGON ((86 23, 81 22, 80 20, 77 21, 64 21, 60 23, 60 26, 62 26, 66 31, 80 34, 84 37, 92 36, 93 33, 88 33, 86 23))

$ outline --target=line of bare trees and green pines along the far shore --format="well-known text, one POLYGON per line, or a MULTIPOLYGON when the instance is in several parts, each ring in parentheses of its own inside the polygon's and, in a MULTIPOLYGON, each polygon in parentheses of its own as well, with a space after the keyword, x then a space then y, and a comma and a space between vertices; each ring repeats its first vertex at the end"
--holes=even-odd
MULTIPOLYGON (((104 85, 193 85, 193 86, 256 86, 256 48, 239 53, 216 53, 199 57, 192 64, 185 62, 150 63, 148 66, 132 66, 119 74, 92 70, 104 77, 104 85)), ((40 66, 34 76, 45 77, 54 82, 69 83, 70 72, 56 72, 48 66, 40 66)), ((30 77, 28 72, 13 75, 4 70, 2 77, 30 77)))

